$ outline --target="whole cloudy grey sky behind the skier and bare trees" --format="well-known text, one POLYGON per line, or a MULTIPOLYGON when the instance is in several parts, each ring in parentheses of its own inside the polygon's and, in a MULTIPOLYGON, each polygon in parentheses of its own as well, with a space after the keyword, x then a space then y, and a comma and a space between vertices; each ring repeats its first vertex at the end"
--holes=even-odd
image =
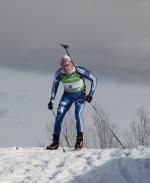
POLYGON ((94 100, 120 129, 138 107, 149 112, 149 9, 147 0, 0 1, 0 146, 48 143, 44 124, 53 120, 47 103, 65 53, 60 43, 96 75, 94 100))

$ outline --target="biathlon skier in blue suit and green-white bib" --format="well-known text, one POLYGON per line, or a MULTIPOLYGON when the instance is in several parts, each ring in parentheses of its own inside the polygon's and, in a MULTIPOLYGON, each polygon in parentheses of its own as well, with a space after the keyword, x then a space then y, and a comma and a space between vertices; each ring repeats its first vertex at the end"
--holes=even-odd
POLYGON ((75 66, 68 55, 64 55, 62 57, 60 61, 60 66, 61 68, 56 71, 55 78, 53 81, 50 102, 48 103, 49 110, 53 110, 55 96, 60 81, 63 83, 64 93, 62 95, 57 109, 53 133, 53 142, 51 145, 47 146, 46 149, 58 149, 59 136, 61 132, 61 123, 66 112, 70 109, 73 103, 75 104, 75 118, 77 130, 75 149, 81 149, 83 147, 83 119, 81 114, 85 105, 85 101, 92 101, 92 96, 96 89, 97 79, 85 68, 75 66), (86 86, 84 79, 88 79, 91 81, 91 88, 89 94, 86 94, 86 86))

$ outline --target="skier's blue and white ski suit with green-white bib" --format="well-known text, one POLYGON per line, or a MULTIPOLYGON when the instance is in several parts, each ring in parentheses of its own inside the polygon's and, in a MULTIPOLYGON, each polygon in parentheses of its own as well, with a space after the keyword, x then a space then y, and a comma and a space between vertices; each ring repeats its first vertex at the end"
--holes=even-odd
POLYGON ((80 66, 75 66, 73 72, 70 75, 65 74, 62 68, 56 71, 53 86, 51 89, 50 100, 55 101, 55 96, 60 81, 64 85, 64 93, 57 109, 54 125, 55 135, 60 135, 63 118, 73 103, 75 104, 77 133, 84 131, 82 118, 82 111, 85 105, 84 93, 86 90, 84 79, 91 81, 89 95, 93 96, 96 89, 97 79, 88 70, 80 66))

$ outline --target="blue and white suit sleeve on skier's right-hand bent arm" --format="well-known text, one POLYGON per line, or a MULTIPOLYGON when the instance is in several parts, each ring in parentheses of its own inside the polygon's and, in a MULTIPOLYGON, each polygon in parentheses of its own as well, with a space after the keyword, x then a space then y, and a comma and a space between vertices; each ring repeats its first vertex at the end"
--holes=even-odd
POLYGON ((79 74, 81 75, 81 77, 91 81, 91 88, 90 88, 89 95, 93 96, 96 89, 96 85, 97 85, 97 78, 93 74, 91 74, 90 71, 86 70, 83 67, 77 66, 76 69, 77 69, 77 72, 79 72, 79 74))

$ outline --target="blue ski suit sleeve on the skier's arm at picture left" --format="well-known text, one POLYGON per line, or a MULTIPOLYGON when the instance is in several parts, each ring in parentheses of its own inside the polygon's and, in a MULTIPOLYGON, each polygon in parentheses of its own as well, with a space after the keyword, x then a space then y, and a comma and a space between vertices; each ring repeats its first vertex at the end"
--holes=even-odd
POLYGON ((60 80, 61 80, 61 69, 56 71, 55 77, 53 80, 53 85, 52 85, 52 89, 51 89, 51 97, 50 97, 50 100, 52 100, 52 101, 55 101, 55 96, 57 93, 57 89, 58 89, 60 80))

